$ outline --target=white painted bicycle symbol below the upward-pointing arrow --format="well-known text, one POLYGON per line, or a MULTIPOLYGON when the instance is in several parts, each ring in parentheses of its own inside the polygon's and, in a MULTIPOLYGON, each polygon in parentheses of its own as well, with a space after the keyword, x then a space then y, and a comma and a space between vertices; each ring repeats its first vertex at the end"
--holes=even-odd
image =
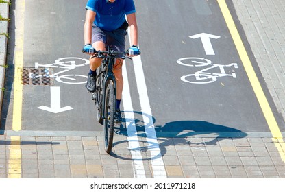
POLYGON ((231 63, 231 64, 214 64, 211 60, 205 59, 205 58, 180 58, 177 60, 178 64, 182 64, 187 67, 207 67, 205 69, 201 69, 199 71, 196 71, 195 73, 183 75, 181 77, 181 80, 186 83, 190 84, 209 84, 212 82, 215 82, 217 80, 217 77, 233 77, 236 78, 236 73, 234 69, 238 68, 237 63, 231 63), (232 73, 226 73, 225 67, 234 67, 232 69, 232 73), (206 71, 210 71, 214 68, 219 68, 219 71, 221 73, 210 73, 206 71))

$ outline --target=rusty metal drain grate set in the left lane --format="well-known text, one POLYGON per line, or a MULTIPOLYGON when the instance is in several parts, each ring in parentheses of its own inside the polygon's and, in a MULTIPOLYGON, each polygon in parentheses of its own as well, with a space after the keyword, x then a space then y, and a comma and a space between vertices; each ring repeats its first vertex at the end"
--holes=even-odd
POLYGON ((23 85, 51 85, 48 68, 23 68, 21 70, 23 85))

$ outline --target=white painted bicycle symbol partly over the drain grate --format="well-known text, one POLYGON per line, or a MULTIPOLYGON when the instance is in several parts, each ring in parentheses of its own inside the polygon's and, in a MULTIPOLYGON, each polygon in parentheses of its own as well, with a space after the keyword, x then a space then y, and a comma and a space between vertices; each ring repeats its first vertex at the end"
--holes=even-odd
MULTIPOLYGON (((57 73, 54 73, 52 75, 49 75, 49 70, 47 70, 46 74, 43 74, 42 76, 49 76, 51 78, 54 78, 56 81, 64 84, 85 84, 87 80, 86 75, 62 75, 62 73, 69 72, 76 67, 84 67, 89 64, 89 60, 85 58, 75 58, 75 57, 67 57, 67 58, 59 58, 58 60, 55 60, 52 64, 38 64, 38 62, 35 63, 35 67, 45 67, 48 68, 60 68, 64 69, 62 71, 59 71, 57 73)), ((36 78, 38 76, 33 76, 32 78, 36 78)))

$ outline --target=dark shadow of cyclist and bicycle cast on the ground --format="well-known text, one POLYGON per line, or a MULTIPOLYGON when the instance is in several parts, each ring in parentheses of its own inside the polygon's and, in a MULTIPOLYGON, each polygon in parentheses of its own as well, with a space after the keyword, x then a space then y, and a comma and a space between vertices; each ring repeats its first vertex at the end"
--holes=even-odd
MULTIPOLYGON (((125 117, 127 117, 125 112, 125 117)), ((124 123, 120 128, 115 130, 116 134, 125 135, 128 137, 127 141, 114 142, 114 147, 123 145, 125 143, 139 143, 137 147, 129 148, 129 151, 140 152, 143 154, 142 158, 132 158, 132 156, 119 155, 112 152, 112 156, 124 160, 151 160, 160 158, 160 156, 147 157, 147 152, 151 150, 160 149, 160 155, 164 156, 167 153, 166 147, 173 145, 173 138, 179 138, 179 145, 217 145, 216 142, 223 139, 237 139, 246 137, 247 134, 236 128, 230 128, 225 125, 217 125, 207 121, 172 121, 165 123, 165 125, 155 125, 156 119, 151 115, 142 112, 133 112, 134 118, 124 118, 124 123), (127 129, 132 126, 136 128, 136 132, 127 132, 127 129), (149 135, 149 129, 154 129, 156 135, 149 135), (151 136, 151 141, 147 141, 147 136, 151 136), (153 142, 153 136, 158 141, 153 142), (192 143, 188 137, 207 138, 203 142, 192 143), (134 139, 135 138, 135 139, 134 139), (219 140, 218 140, 219 138, 219 140)), ((177 144, 177 143, 176 143, 177 144)))

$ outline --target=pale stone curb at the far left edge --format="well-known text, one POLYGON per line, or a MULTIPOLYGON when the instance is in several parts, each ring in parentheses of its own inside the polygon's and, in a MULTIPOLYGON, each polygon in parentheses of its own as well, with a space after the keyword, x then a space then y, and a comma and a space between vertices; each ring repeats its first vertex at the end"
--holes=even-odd
MULTIPOLYGON (((9 18, 9 4, 0 3, 0 12, 3 18, 9 18)), ((0 21, 0 88, 5 86, 5 64, 7 56, 8 37, 8 21, 0 21)), ((3 91, 0 89, 0 114, 2 110, 3 91)))

